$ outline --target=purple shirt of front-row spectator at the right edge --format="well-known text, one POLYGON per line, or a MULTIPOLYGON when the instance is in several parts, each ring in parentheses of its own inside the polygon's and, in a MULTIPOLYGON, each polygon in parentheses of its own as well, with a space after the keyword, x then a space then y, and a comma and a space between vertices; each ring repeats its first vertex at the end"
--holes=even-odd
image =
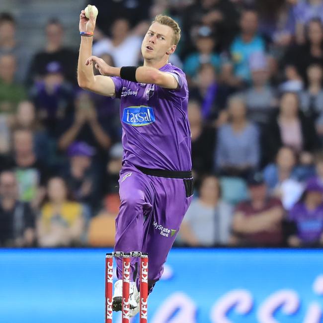
POLYGON ((297 203, 289 211, 289 219, 295 221, 298 236, 304 242, 317 242, 323 233, 323 204, 308 210, 304 203, 297 203))

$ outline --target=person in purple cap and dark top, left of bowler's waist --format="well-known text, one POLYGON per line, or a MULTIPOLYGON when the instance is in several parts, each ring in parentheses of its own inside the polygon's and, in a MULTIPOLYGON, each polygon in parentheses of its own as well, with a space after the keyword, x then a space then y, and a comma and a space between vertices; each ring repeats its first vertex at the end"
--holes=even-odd
POLYGON ((97 176, 92 167, 92 157, 95 151, 84 142, 74 142, 70 145, 67 155, 69 164, 63 177, 74 198, 93 210, 98 207, 97 201, 99 200, 96 192, 97 176))

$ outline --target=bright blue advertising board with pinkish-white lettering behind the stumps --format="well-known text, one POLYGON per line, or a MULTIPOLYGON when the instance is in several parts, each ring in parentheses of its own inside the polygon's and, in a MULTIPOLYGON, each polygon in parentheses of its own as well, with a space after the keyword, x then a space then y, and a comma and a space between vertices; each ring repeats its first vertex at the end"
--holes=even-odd
MULTIPOLYGON (((0 249, 0 322, 103 323, 109 251, 0 249)), ((323 323, 322 313, 323 250, 172 249, 148 322, 323 323)))

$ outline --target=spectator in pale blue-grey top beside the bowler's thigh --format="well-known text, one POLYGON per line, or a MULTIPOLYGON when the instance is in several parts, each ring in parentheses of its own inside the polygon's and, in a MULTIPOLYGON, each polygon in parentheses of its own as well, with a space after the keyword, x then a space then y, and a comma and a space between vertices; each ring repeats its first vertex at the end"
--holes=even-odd
POLYGON ((221 200, 217 177, 204 177, 199 197, 192 201, 181 224, 181 241, 189 246, 228 244, 232 211, 232 206, 221 200))

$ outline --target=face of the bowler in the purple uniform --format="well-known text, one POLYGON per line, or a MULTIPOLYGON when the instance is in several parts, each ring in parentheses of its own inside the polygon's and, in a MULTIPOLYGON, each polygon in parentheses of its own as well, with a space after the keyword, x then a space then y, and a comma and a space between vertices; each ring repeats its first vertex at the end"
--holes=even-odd
POLYGON ((173 30, 159 22, 154 22, 148 29, 141 46, 145 60, 161 60, 166 53, 172 54, 176 46, 172 45, 173 30))

